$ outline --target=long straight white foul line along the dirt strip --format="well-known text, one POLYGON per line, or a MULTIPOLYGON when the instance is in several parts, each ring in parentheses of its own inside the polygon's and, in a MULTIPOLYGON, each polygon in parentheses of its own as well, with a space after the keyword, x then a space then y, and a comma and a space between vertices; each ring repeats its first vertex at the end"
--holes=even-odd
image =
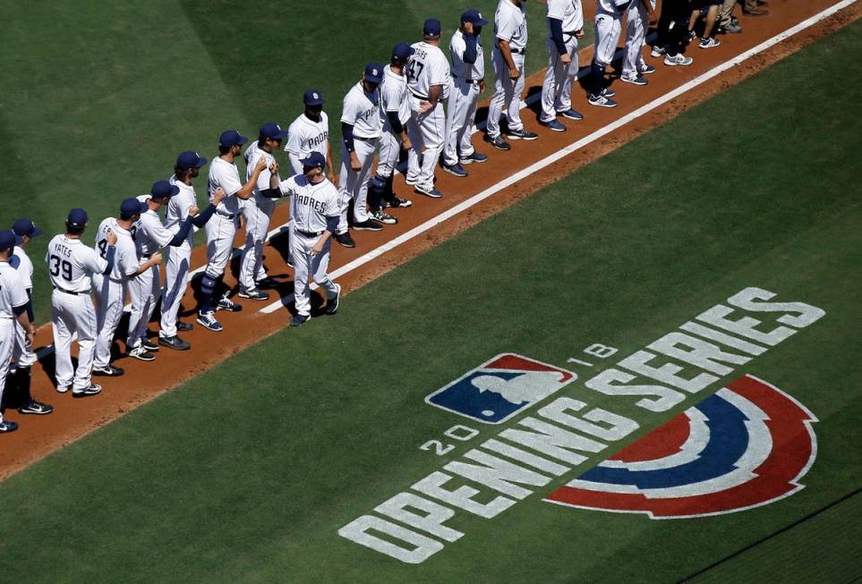
MULTIPOLYGON (((609 134, 611 131, 618 130, 620 127, 626 125, 627 123, 632 122, 632 121, 636 120, 637 118, 643 116, 644 114, 648 114, 649 112, 653 111, 653 109, 666 104, 671 99, 679 97, 680 95, 682 95, 683 93, 686 93, 690 89, 696 88, 698 85, 704 84, 706 81, 713 79, 713 77, 720 75, 722 72, 727 71, 731 67, 735 67, 739 63, 742 63, 743 61, 750 59, 752 56, 757 55, 758 53, 764 52, 766 49, 777 45, 782 40, 785 40, 789 37, 792 37, 793 35, 797 34, 799 31, 807 29, 808 27, 814 25, 815 23, 822 21, 825 18, 828 18, 829 16, 832 16, 832 14, 837 13, 838 11, 846 8, 850 4, 854 4, 855 2, 857 2, 857 0, 843 0, 842 2, 840 2, 838 4, 833 4, 829 8, 825 9, 823 12, 817 13, 805 21, 799 22, 797 25, 790 27, 788 30, 785 30, 784 32, 781 32, 781 33, 775 35, 774 37, 769 38, 768 40, 765 40, 760 45, 757 45, 756 47, 752 47, 752 48, 748 49, 746 52, 741 53, 740 55, 733 57, 729 61, 725 61, 724 63, 721 63, 720 65, 713 67, 713 69, 698 75, 695 79, 687 81, 686 83, 680 85, 679 88, 672 89, 670 92, 664 94, 661 97, 656 97, 655 99, 653 99, 653 101, 649 102, 648 104, 645 104, 644 106, 638 107, 635 111, 630 112, 630 113, 622 116, 621 118, 619 118, 619 120, 611 122, 608 125, 600 128, 597 131, 593 131, 592 134, 585 136, 581 140, 577 140, 575 143, 569 144, 566 148, 558 150, 557 152, 555 152, 554 154, 551 154, 548 157, 542 158, 542 160, 534 163, 533 165, 527 166, 524 170, 519 171, 516 174, 512 174, 508 178, 503 179, 502 181, 489 187, 488 189, 482 190, 482 192, 480 192, 477 195, 474 195, 470 199, 466 199, 466 200, 462 201, 461 203, 458 203, 455 207, 449 208, 448 210, 440 213, 440 215, 429 219, 425 223, 414 227, 413 229, 411 229, 410 231, 408 231, 406 233, 402 233, 401 235, 399 235, 397 238, 395 238, 393 240, 387 241, 383 245, 380 245, 380 247, 377 247, 374 250, 369 251, 368 253, 361 256, 360 258, 356 258, 353 261, 347 263, 346 265, 337 268, 336 270, 334 270, 333 272, 331 272, 329 274, 330 277, 337 278, 338 276, 345 275, 349 272, 352 272, 357 267, 364 266, 365 264, 370 262, 372 259, 379 258, 381 255, 383 255, 384 253, 386 253, 389 250, 394 250, 395 248, 397 248, 402 243, 405 243, 406 241, 410 241, 410 240, 414 239, 414 237, 417 237, 417 236, 421 235, 422 233, 429 231, 430 229, 443 223, 447 219, 449 219, 453 216, 456 216, 459 213, 464 212, 468 208, 473 207, 477 203, 482 202, 484 199, 488 199, 492 195, 497 194, 500 190, 506 189, 507 187, 515 184, 516 182, 520 181, 521 179, 523 179, 527 176, 530 176, 531 174, 534 174, 537 171, 542 170, 542 168, 545 168, 547 166, 554 164, 559 159, 561 159, 563 157, 567 157, 569 154, 576 152, 576 150, 579 150, 580 148, 584 148, 585 146, 594 142, 595 140, 599 140, 600 138, 609 134)), ((290 301, 289 299, 292 296, 293 296, 292 294, 289 294, 280 300, 276 300, 275 302, 272 302, 271 304, 264 307, 263 309, 260 309, 260 312, 265 313, 265 314, 269 314, 270 312, 275 312, 277 309, 284 308, 285 305, 287 303, 289 303, 289 301, 290 301)))

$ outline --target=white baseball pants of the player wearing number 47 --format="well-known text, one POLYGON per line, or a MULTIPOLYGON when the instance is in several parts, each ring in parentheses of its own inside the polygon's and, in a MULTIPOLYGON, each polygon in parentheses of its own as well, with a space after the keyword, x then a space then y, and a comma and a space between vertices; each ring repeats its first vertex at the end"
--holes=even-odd
POLYGON ((442 100, 424 114, 419 113, 419 99, 408 97, 410 120, 407 133, 413 148, 407 153, 407 180, 429 190, 434 188, 434 169, 443 152, 446 140, 446 114, 442 100))

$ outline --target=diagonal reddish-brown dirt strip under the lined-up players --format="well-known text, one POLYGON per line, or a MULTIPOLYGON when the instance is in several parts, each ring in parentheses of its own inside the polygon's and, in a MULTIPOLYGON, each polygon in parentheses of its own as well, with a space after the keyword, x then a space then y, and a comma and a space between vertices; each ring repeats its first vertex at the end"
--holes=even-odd
MULTIPOLYGON (((585 10, 588 13, 587 16, 592 17, 592 3, 585 2, 585 4, 590 4, 585 6, 585 10)), ((443 199, 428 199, 422 195, 413 194, 411 188, 405 186, 403 177, 399 176, 396 181, 397 192, 402 197, 409 193, 408 198, 414 201, 414 206, 408 209, 397 209, 399 223, 387 225, 382 232, 354 233, 354 239, 357 242, 357 247, 354 250, 346 250, 334 245, 330 269, 345 265, 385 241, 409 231, 416 225, 424 223, 444 210, 454 207, 461 201, 487 189, 492 184, 499 182, 500 179, 532 165, 561 148, 565 148, 578 138, 602 128, 621 115, 643 106, 654 98, 667 93, 670 89, 679 87, 687 80, 695 78, 715 65, 723 63, 751 47, 755 47, 765 39, 772 38, 832 4, 835 4, 833 0, 808 0, 807 2, 771 0, 769 16, 761 18, 740 16, 744 33, 725 35, 721 38, 721 47, 699 50, 693 43, 689 47, 688 54, 694 57, 695 63, 689 67, 666 67, 661 64, 660 59, 653 59, 647 54, 647 63, 652 63, 658 72, 650 76, 650 83, 645 87, 635 87, 614 80, 613 89, 617 91, 618 95, 615 99, 619 101, 619 107, 606 109, 589 106, 586 104, 584 92, 576 89, 573 92, 573 106, 585 114, 585 119, 581 122, 564 121, 568 126, 568 131, 553 132, 543 128, 537 123, 535 114, 527 109, 522 115, 525 126, 527 129, 539 133, 539 140, 532 142, 514 141, 511 151, 500 152, 483 143, 480 134, 474 135, 476 148, 489 155, 487 163, 468 166, 470 176, 466 179, 458 179, 449 174, 438 172, 438 187, 445 193, 443 199)), ((739 9, 737 8, 737 10, 739 9)), ((342 284, 345 292, 350 292, 370 282, 393 267, 414 258, 423 250, 428 250, 441 241, 447 240, 452 235, 482 221, 500 209, 508 207, 516 200, 523 199, 550 182, 559 180, 560 177, 570 174, 576 168, 618 148, 645 131, 685 111, 688 107, 727 89, 782 57, 807 46, 817 38, 824 37, 833 30, 838 30, 849 22, 857 20, 860 16, 862 16, 862 4, 858 2, 850 4, 830 18, 820 21, 815 26, 803 30, 729 71, 723 72, 713 80, 709 80, 652 112, 637 118, 618 131, 611 132, 604 138, 594 141, 589 146, 578 150, 575 155, 559 160, 542 171, 541 174, 528 176, 515 185, 499 191, 491 198, 483 200, 464 213, 448 219, 433 230, 423 233, 395 250, 386 252, 371 264, 338 278, 338 282, 342 284)), ((543 40, 533 39, 531 47, 530 50, 543 51, 543 40)), ((648 50, 648 47, 644 50, 648 50)), ((582 67, 589 65, 592 55, 592 47, 587 47, 581 51, 580 63, 582 67)), ((543 72, 539 72, 528 78, 527 88, 529 88, 529 92, 541 89, 543 74, 543 72)), ((804 80, 800 80, 800 82, 804 82, 804 80)), ((486 90, 486 102, 490 93, 491 89, 486 90)), ((732 113, 729 113, 729 126, 731 121, 732 113)), ((199 183, 201 183, 200 180, 199 183)), ((273 228, 285 224, 287 218, 286 206, 277 207, 272 219, 273 228)), ((238 247, 241 241, 241 238, 238 237, 235 245, 238 247)), ((200 267, 205 263, 205 250, 203 246, 198 246, 192 254, 192 266, 200 267)), ((280 286, 277 291, 272 292, 281 292, 282 295, 293 292, 293 283, 287 276, 290 274, 290 269, 286 267, 284 259, 276 247, 267 247, 266 263, 271 275, 285 275, 284 278, 281 278, 285 284, 280 286)), ((227 276, 226 281, 228 284, 235 284, 230 275, 227 276)), ((272 296, 275 300, 274 293, 272 296)), ((194 317, 191 316, 194 309, 193 302, 192 293, 187 293, 183 303, 183 314, 186 315, 183 317, 184 321, 193 322, 194 320, 194 317)), ((54 404, 55 412, 52 415, 41 417, 21 416, 14 410, 6 412, 5 418, 18 421, 21 427, 19 431, 0 439, 2 442, 0 480, 8 478, 15 472, 26 468, 64 445, 72 443, 81 436, 89 434, 93 429, 107 424, 125 412, 164 394, 183 381, 225 360, 235 352, 276 333, 287 325, 291 317, 287 310, 277 310, 269 315, 260 314, 258 310, 269 302, 245 300, 242 303, 244 306, 242 312, 230 315, 223 312, 218 313, 219 320, 225 325, 224 332, 220 334, 210 333, 203 330, 201 326, 195 326, 194 330, 183 334, 183 338, 192 343, 191 351, 170 351, 162 348, 161 351, 158 351, 157 360, 151 363, 143 363, 128 358, 117 360, 116 365, 126 371, 124 377, 96 378, 97 382, 103 386, 103 392, 87 400, 75 401, 71 394, 57 394, 43 364, 39 363, 34 366, 33 394, 40 401, 54 404)), ((349 306, 345 309, 349 309, 349 306)), ((307 326, 314 326, 313 320, 307 326)), ((157 327, 150 326, 150 329, 156 330, 157 327)), ((48 324, 39 328, 37 345, 44 346, 50 342, 51 329, 50 324, 48 324)))

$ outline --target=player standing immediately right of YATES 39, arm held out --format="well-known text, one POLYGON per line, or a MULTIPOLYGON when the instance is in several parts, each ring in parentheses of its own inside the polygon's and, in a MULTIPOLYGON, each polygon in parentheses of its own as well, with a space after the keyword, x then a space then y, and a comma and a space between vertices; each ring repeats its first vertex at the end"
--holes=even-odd
POLYGON ((116 236, 114 269, 107 275, 93 275, 96 291, 96 356, 93 360, 93 375, 118 377, 124 370, 111 365, 111 345, 114 333, 123 317, 123 305, 129 281, 161 263, 161 254, 155 253, 141 264, 132 239, 132 225, 147 211, 146 203, 132 197, 120 205, 120 217, 107 217, 98 225, 96 249, 102 258, 107 258, 107 235, 116 236))

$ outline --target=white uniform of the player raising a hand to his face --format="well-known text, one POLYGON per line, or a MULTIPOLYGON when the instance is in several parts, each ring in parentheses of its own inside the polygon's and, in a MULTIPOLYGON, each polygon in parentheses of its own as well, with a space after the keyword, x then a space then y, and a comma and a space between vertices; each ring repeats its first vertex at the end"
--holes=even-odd
POLYGON ((464 62, 466 47, 464 33, 456 30, 449 41, 452 92, 447 105, 446 148, 443 151, 443 162, 447 165, 458 164, 459 150, 461 158, 474 153, 470 136, 479 104, 479 81, 485 78, 485 58, 481 38, 476 38, 475 63, 464 62))

